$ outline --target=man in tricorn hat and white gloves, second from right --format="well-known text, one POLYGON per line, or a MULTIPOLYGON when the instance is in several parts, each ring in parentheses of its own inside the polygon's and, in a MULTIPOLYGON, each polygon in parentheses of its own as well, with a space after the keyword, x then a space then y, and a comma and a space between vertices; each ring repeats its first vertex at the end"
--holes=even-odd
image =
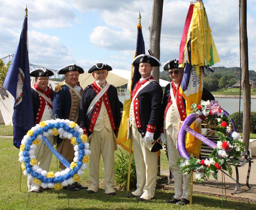
POLYGON ((128 131, 128 138, 133 144, 137 189, 126 197, 145 201, 154 198, 157 151, 162 148, 159 136, 163 91, 151 76, 153 67, 161 66, 161 63, 153 56, 141 54, 134 58, 132 65, 138 66, 141 75, 131 95, 128 131))

